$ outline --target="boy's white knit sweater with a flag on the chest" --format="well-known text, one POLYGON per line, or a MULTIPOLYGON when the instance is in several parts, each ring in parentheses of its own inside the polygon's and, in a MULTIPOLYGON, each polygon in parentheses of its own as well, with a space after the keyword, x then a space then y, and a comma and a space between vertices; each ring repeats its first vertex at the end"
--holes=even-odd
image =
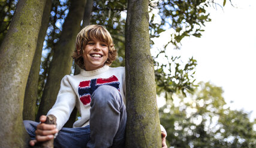
POLYGON ((56 116, 57 128, 60 130, 76 106, 81 118, 74 122, 73 127, 89 125, 91 95, 100 85, 116 87, 125 102, 125 67, 113 68, 105 65, 92 71, 81 70, 79 75, 64 76, 57 100, 47 115, 56 116))

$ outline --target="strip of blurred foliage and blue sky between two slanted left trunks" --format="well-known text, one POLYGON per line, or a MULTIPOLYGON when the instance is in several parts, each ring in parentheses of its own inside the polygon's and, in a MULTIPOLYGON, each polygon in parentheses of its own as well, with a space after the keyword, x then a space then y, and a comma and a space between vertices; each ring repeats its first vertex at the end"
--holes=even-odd
POLYGON ((49 73, 49 66, 53 56, 53 50, 56 48, 56 45, 59 41, 59 37, 61 36, 62 25, 64 23, 65 18, 68 15, 69 7, 69 1, 52 1, 50 22, 44 41, 46 44, 44 44, 43 46, 43 52, 41 57, 40 75, 37 90, 37 110, 40 104, 41 97, 43 95, 44 86, 47 82, 47 75, 49 73))

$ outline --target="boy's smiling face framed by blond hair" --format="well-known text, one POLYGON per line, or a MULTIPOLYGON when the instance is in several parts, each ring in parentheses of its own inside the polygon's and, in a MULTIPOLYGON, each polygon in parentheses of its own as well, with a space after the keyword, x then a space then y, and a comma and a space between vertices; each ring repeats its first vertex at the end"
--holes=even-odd
POLYGON ((85 70, 95 70, 104 66, 109 57, 109 47, 99 39, 89 41, 83 52, 85 70))

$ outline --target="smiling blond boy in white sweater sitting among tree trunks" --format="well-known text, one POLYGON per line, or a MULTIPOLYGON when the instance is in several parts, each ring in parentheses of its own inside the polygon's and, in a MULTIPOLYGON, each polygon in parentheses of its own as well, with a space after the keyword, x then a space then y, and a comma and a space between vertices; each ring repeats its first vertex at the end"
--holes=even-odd
MULTIPOLYGON (((47 115, 55 115, 57 126, 24 121, 25 127, 35 140, 55 138, 55 147, 124 147, 125 125, 125 67, 109 67, 116 58, 116 50, 110 33, 100 25, 89 25, 77 35, 73 58, 82 70, 79 75, 66 75, 55 105, 47 115), (74 109, 81 119, 74 128, 62 128, 74 109)), ((163 134, 163 146, 165 135, 163 134)))

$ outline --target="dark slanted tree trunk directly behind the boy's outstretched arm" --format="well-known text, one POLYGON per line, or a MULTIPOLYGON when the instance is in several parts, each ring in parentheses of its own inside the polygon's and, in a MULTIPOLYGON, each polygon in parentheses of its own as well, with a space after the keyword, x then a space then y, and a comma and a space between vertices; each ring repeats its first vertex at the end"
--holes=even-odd
POLYGON ((44 87, 40 107, 37 113, 39 120, 41 115, 46 115, 53 106, 58 95, 61 79, 70 74, 72 58, 77 33, 85 10, 85 0, 71 1, 70 10, 62 26, 62 34, 56 48, 53 49, 53 58, 50 63, 46 86, 44 87))

